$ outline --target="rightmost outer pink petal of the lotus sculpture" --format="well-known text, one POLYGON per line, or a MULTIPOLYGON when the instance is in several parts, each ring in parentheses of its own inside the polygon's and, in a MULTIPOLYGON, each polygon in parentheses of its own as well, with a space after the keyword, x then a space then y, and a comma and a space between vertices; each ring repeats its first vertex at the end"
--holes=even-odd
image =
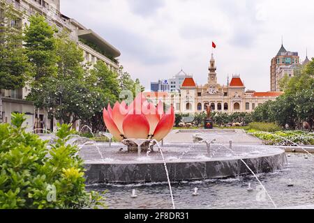
POLYGON ((174 109, 173 107, 170 107, 170 112, 164 114, 163 118, 161 118, 160 122, 158 123, 154 132, 154 139, 160 141, 165 138, 167 134, 169 134, 169 132, 172 130, 172 127, 174 125, 174 119, 174 109))

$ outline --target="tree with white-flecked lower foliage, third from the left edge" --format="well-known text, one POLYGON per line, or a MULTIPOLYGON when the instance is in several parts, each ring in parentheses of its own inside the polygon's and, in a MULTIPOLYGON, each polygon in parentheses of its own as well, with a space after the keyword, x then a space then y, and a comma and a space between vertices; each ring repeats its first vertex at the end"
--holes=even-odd
POLYGON ((68 33, 62 32, 53 40, 57 58, 57 73, 34 79, 28 99, 51 117, 64 123, 74 123, 90 117, 94 98, 84 79, 83 53, 68 33))

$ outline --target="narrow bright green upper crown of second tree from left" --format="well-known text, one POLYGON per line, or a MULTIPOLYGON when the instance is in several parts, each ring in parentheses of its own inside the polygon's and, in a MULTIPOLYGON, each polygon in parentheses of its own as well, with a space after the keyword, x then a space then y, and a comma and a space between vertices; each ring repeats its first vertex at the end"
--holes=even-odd
POLYGON ((35 79, 51 77, 57 73, 56 31, 42 15, 29 17, 30 25, 24 31, 24 47, 32 64, 35 79))

